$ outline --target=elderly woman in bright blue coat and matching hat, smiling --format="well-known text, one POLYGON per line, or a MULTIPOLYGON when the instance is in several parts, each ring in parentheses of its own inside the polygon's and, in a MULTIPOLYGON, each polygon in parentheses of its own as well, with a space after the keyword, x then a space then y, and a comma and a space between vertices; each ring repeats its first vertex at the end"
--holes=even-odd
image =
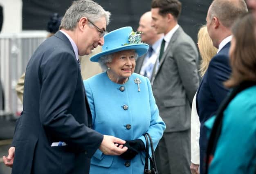
POLYGON ((99 62, 103 73, 84 81, 92 112, 92 128, 126 140, 128 150, 121 156, 97 150, 91 159, 90 174, 142 174, 145 139, 150 134, 154 149, 165 130, 147 77, 133 73, 135 60, 148 45, 140 34, 123 27, 104 36, 102 52, 90 58, 99 62))

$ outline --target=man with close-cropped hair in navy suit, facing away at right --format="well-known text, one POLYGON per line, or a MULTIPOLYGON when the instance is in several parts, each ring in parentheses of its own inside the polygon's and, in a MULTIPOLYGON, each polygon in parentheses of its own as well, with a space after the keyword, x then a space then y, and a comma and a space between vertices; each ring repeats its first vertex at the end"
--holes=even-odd
POLYGON ((207 30, 218 48, 217 54, 211 59, 209 67, 202 78, 196 96, 197 111, 200 119, 200 174, 204 174, 205 153, 207 148, 207 130, 204 122, 215 114, 229 90, 223 82, 229 78, 229 47, 231 26, 243 13, 247 13, 244 0, 214 0, 207 13, 207 30))

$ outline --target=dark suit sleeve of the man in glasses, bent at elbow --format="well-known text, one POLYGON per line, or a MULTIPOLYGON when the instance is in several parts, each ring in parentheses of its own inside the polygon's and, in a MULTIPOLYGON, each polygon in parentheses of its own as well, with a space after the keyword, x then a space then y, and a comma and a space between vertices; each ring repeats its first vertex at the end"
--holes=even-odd
POLYGON ((103 135, 76 121, 69 112, 80 75, 74 56, 71 53, 52 55, 41 65, 39 73, 42 77, 40 121, 45 130, 92 156, 103 135))

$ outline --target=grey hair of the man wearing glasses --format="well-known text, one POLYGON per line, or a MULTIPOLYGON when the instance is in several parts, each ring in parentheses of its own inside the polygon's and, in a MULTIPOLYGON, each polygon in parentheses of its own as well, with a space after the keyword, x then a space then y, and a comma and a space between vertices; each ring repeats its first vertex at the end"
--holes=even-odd
MULTIPOLYGON (((61 20, 59 29, 74 30, 77 22, 79 22, 82 17, 86 17, 92 22, 97 22, 104 17, 108 25, 110 12, 105 11, 99 4, 92 0, 77 0, 67 9, 61 20)), ((92 24, 90 24, 90 26, 92 26, 92 24)))

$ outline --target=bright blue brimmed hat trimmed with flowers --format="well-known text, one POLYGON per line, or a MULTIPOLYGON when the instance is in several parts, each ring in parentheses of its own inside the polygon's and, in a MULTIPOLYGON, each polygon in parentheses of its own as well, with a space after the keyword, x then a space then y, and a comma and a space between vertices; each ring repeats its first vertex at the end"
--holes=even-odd
POLYGON ((102 52, 93 55, 90 60, 99 62, 103 55, 116 53, 124 50, 135 50, 140 57, 148 51, 148 44, 141 42, 140 34, 132 31, 132 27, 126 26, 111 31, 104 36, 105 43, 102 46, 102 52))

